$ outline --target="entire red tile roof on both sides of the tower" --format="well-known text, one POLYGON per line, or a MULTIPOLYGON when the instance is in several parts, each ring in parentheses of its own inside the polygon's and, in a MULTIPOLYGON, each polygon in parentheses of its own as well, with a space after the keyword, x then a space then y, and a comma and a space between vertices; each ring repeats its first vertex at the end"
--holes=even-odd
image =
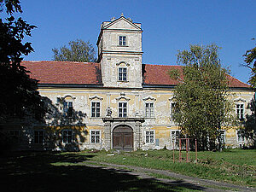
MULTIPOLYGON (((102 84, 100 63, 74 61, 23 61, 32 79, 38 79, 39 84, 102 84)), ((143 64, 143 83, 158 85, 174 85, 177 80, 171 79, 168 71, 177 69, 182 72, 181 66, 164 66, 143 64)), ((242 83, 228 75, 230 87, 247 88, 242 83)))

